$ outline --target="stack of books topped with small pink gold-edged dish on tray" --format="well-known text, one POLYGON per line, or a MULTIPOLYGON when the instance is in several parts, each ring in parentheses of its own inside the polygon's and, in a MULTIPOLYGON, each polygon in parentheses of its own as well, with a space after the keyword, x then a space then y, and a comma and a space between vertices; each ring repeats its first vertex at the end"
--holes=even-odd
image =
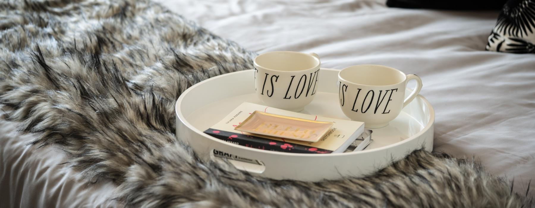
MULTIPOLYGON (((360 151, 373 141, 371 130, 365 130, 363 122, 320 117, 247 102, 236 107, 204 133, 249 148, 292 153, 360 151), (307 125, 311 126, 310 129, 307 125)), ((214 150, 214 155, 248 160, 218 150, 214 150)))

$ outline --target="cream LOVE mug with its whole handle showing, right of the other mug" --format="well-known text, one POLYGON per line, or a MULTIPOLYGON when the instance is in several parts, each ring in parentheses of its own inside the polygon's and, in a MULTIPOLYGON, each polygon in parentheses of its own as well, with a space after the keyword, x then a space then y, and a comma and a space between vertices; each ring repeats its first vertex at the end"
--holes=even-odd
POLYGON ((338 73, 340 107, 351 120, 362 121, 366 128, 388 125, 422 89, 422 80, 414 74, 405 75, 392 67, 357 65, 338 73), (405 98, 409 80, 416 89, 405 98))

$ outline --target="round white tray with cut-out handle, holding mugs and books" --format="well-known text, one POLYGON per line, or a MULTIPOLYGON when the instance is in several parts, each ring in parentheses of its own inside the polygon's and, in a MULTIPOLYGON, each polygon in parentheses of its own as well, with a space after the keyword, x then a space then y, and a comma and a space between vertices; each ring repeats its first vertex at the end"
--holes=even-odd
MULTIPOLYGON (((338 104, 338 72, 322 68, 318 93, 301 113, 348 119, 338 104)), ((216 149, 264 164, 230 160, 240 170, 273 179, 302 181, 363 176, 403 158, 412 150, 433 149, 434 110, 421 95, 404 107, 388 126, 373 129, 373 142, 363 151, 330 154, 266 151, 228 143, 203 133, 242 102, 263 104, 254 93, 253 70, 215 76, 188 88, 175 106, 177 138, 188 143, 204 160, 219 159, 212 153, 216 149)))

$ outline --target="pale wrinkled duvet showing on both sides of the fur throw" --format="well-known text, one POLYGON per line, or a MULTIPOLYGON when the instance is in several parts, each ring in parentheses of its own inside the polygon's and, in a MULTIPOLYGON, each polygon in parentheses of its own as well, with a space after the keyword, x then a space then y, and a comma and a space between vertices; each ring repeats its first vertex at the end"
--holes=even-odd
MULTIPOLYGON (((498 12, 349 0, 162 3, 258 53, 315 52, 326 68, 380 64, 417 74, 436 112, 434 150, 480 160, 519 192, 535 180, 535 55, 484 51, 498 12)), ((62 152, 28 148, 32 135, 18 136, 8 122, 0 128, 0 207, 113 205, 104 201, 111 183, 85 188, 57 165, 62 152)))

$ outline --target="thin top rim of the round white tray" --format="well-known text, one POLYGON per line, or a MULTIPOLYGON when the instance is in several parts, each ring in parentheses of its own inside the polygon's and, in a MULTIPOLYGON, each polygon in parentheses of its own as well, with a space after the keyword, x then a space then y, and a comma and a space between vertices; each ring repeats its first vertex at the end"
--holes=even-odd
MULTIPOLYGON (((340 71, 340 70, 337 70, 337 69, 334 69, 334 68, 320 68, 320 69, 321 70, 325 70, 325 71, 338 71, 338 72, 340 71)), ((254 151, 254 152, 258 152, 258 153, 261 153, 261 154, 268 154, 268 155, 269 154, 273 154, 273 155, 281 155, 281 156, 300 156, 300 157, 337 157, 337 156, 341 156, 341 155, 343 155, 343 156, 360 155, 360 154, 363 154, 363 153, 382 151, 382 150, 386 150, 386 149, 390 149, 390 148, 396 147, 396 146, 401 145, 403 143, 407 143, 407 142, 412 141, 412 140, 416 140, 422 134, 427 132, 431 127, 433 127, 433 125, 434 125, 435 112, 434 112, 433 106, 431 105, 431 103, 429 101, 427 101, 427 99, 424 96, 418 95, 416 98, 422 99, 422 101, 425 103, 425 105, 427 105, 427 107, 429 107, 429 114, 430 114, 429 122, 427 123, 427 125, 424 126, 424 128, 420 132, 418 132, 418 133, 416 133, 416 134, 404 139, 403 141, 396 142, 396 143, 393 143, 393 144, 388 144, 386 146, 379 147, 379 148, 356 151, 356 152, 339 152, 339 153, 328 153, 328 154, 303 154, 303 153, 294 153, 294 152, 277 152, 277 151, 259 150, 259 149, 243 147, 242 145, 228 143, 228 142, 219 140, 218 138, 212 137, 212 136, 204 133, 202 130, 199 130, 196 127, 194 127, 192 124, 190 124, 187 121, 187 119, 184 117, 184 114, 182 114, 182 112, 178 111, 180 109, 180 106, 181 106, 181 103, 182 103, 182 100, 184 99, 184 97, 190 91, 192 91, 193 88, 195 88, 196 86, 199 86, 199 85, 204 84, 206 82, 210 82, 211 80, 214 80, 214 79, 222 78, 224 76, 231 76, 231 75, 234 75, 236 73, 246 73, 246 72, 249 72, 251 70, 253 70, 253 69, 236 71, 236 72, 231 72, 231 73, 226 73, 226 74, 213 76, 212 78, 209 78, 209 79, 203 80, 201 82, 198 82, 198 83, 194 84, 192 87, 189 87, 188 89, 186 89, 184 92, 182 92, 182 94, 177 99, 177 102, 175 103, 175 116, 180 120, 180 121, 177 120, 175 122, 182 122, 182 124, 184 124, 189 129, 192 129, 195 133, 197 133, 199 135, 202 135, 204 137, 207 137, 210 140, 216 141, 216 142, 218 142, 220 144, 229 145, 229 146, 234 147, 234 148, 239 148, 239 149, 243 149, 243 150, 246 150, 246 151, 254 151)), ((178 137, 179 135, 175 135, 175 136, 178 137)), ((178 139, 181 140, 181 138, 178 138, 178 139)))

